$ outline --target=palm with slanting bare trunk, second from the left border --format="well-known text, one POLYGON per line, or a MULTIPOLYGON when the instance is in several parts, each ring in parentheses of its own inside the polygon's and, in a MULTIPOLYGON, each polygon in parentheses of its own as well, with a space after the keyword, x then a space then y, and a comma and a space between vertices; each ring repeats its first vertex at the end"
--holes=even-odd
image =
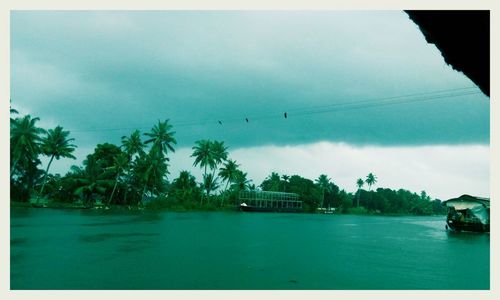
POLYGON ((47 175, 49 174, 49 168, 52 161, 55 159, 59 160, 61 157, 67 157, 76 159, 76 157, 71 154, 75 151, 76 146, 70 142, 74 141, 73 138, 68 138, 69 131, 64 131, 61 126, 57 126, 54 129, 49 129, 47 131, 47 136, 42 140, 42 151, 43 154, 50 156, 49 163, 47 164, 47 169, 45 170, 45 175, 43 176, 42 188, 40 193, 36 197, 37 203, 40 195, 43 195, 43 189, 47 181, 47 175))

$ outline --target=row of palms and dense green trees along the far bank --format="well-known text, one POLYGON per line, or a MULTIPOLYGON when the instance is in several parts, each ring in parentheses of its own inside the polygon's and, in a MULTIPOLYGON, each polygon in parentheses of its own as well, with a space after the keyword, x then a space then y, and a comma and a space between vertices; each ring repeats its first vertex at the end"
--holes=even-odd
POLYGON ((75 159, 77 148, 70 132, 61 126, 45 130, 39 118, 19 116, 11 109, 11 201, 143 207, 152 209, 233 209, 243 190, 297 193, 306 211, 335 208, 342 213, 442 214, 441 201, 406 190, 378 188, 376 176, 358 179, 352 194, 340 189, 326 174, 316 180, 272 172, 256 186, 240 164, 230 158, 223 141, 198 140, 192 147, 193 166, 202 171, 198 182, 189 171, 168 179, 170 155, 177 140, 169 120, 158 121, 150 131, 134 130, 120 145, 98 144, 81 166, 73 165, 63 176, 51 174, 54 159, 75 159), (12 117, 14 116, 14 117, 12 117), (48 163, 41 169, 40 158, 48 163), (368 191, 363 190, 364 184, 368 191))

